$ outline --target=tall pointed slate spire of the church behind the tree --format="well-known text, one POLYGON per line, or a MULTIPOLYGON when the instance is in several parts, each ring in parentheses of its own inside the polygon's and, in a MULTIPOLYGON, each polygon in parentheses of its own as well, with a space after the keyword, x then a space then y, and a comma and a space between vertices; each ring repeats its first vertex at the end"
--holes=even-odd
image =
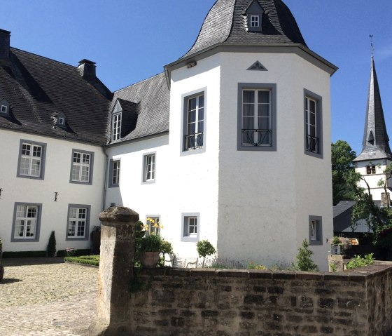
POLYGON ((369 95, 367 97, 362 152, 354 161, 375 159, 392 159, 392 153, 389 148, 389 137, 386 133, 372 46, 372 65, 370 69, 369 95))

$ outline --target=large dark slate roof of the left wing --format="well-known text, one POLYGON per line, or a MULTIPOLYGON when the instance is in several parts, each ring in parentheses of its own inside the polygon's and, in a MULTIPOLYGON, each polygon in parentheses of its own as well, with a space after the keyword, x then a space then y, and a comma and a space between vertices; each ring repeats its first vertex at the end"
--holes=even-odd
POLYGON ((0 62, 0 79, 0 100, 10 103, 0 128, 104 144, 111 93, 99 79, 90 83, 78 67, 16 48, 0 62), (66 116, 64 128, 53 120, 60 113, 66 116))

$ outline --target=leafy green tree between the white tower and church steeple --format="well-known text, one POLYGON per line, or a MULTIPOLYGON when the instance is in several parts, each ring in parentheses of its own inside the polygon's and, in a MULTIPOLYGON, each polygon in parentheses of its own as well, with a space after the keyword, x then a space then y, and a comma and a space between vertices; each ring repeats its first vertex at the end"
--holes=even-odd
POLYGON ((332 203, 336 206, 339 201, 355 199, 356 182, 350 176, 355 172, 353 159, 356 152, 343 140, 332 143, 331 151, 332 203))

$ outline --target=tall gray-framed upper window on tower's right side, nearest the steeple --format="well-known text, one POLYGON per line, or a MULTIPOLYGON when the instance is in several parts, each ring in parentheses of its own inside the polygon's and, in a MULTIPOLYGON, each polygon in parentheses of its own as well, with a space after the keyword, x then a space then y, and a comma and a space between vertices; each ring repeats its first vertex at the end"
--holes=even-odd
POLYGON ((323 159, 321 97, 304 90, 305 154, 323 159))

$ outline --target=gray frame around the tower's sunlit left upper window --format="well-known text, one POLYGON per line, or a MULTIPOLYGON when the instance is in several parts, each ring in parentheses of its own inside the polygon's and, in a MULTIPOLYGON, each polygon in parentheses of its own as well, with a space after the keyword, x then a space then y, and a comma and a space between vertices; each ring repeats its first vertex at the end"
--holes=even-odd
POLYGON ((182 115, 181 115, 181 142, 180 156, 200 154, 206 152, 207 144, 207 87, 193 90, 181 95, 182 115), (185 137, 188 135, 188 100, 204 95, 204 119, 203 119, 203 146, 195 149, 186 149, 185 137))

